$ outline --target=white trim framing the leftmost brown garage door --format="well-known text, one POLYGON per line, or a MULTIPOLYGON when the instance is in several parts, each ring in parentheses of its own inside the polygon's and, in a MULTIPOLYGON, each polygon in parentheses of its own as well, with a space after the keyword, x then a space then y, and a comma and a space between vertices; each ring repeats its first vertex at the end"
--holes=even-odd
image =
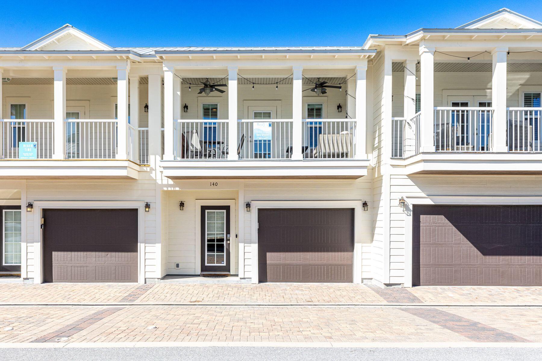
MULTIPOLYGON (((43 209, 138 209, 138 283, 145 283, 145 201, 34 201, 34 283, 43 283, 43 209)), ((47 227, 47 225, 45 225, 47 227)), ((26 252, 27 250, 25 250, 26 252)))

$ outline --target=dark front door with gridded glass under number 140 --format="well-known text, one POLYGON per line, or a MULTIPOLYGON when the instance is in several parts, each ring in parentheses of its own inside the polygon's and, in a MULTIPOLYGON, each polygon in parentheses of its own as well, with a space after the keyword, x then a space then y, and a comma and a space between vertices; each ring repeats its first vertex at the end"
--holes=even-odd
POLYGON ((230 272, 230 207, 201 207, 201 270, 230 272))

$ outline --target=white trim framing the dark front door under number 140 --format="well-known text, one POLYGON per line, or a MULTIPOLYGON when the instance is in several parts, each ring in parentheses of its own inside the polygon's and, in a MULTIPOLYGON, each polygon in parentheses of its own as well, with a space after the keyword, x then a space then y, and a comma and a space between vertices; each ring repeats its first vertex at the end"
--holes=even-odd
MULTIPOLYGON (((230 206, 230 273, 235 273, 235 244, 238 238, 235 237, 235 199, 196 199, 196 274, 202 272, 202 206, 230 206)), ((241 230, 240 230, 241 232, 241 230)), ((239 260, 241 263, 241 260, 239 260)))

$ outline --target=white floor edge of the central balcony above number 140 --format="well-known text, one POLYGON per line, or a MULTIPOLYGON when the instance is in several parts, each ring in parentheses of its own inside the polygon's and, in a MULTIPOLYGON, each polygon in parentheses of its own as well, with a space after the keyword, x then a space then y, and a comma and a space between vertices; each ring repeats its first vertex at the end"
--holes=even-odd
POLYGON ((170 179, 358 179, 369 160, 171 160, 160 162, 170 179))

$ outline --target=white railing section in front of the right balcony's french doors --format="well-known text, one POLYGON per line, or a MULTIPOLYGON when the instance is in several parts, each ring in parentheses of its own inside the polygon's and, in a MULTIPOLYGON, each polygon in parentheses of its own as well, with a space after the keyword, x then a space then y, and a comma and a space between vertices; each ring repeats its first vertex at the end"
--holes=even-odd
POLYGON ((435 108, 437 152, 490 152, 492 108, 435 108))

